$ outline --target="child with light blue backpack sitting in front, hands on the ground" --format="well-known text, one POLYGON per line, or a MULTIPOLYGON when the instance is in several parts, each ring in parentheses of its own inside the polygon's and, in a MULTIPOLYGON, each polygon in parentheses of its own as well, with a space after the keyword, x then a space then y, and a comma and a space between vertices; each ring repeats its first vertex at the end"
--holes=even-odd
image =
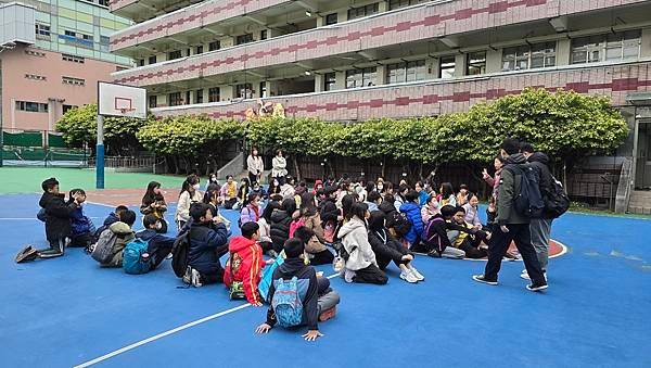
POLYGON ((306 341, 315 341, 322 337, 318 321, 330 319, 335 314, 340 296, 330 288, 327 278, 318 278, 314 267, 305 265, 302 259, 304 243, 298 239, 289 239, 283 249, 286 259, 273 271, 273 281, 269 288, 267 321, 255 329, 256 333, 267 333, 277 323, 281 327, 307 326, 306 341), (296 282, 293 288, 293 282, 296 282), (276 293, 282 290, 283 293, 276 293), (285 295, 298 294, 302 313, 299 316, 285 313, 288 308, 285 295), (280 309, 278 308, 280 306, 280 309), (295 317, 295 318, 291 318, 295 317))

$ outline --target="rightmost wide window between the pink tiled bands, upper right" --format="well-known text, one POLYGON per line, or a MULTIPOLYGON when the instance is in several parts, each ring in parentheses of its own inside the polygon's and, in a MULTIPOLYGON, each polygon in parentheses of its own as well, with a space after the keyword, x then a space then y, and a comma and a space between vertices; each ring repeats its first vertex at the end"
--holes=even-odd
POLYGON ((572 40, 572 64, 628 60, 640 55, 641 31, 582 37, 572 40))

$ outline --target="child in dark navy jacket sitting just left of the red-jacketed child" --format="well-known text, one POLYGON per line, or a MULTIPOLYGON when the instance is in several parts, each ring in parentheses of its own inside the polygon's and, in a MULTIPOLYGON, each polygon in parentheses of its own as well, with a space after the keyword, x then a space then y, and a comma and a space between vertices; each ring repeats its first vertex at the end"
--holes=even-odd
POLYGON ((218 217, 213 218, 213 212, 205 203, 192 204, 190 216, 190 249, 183 281, 192 283, 195 288, 204 283, 221 282, 224 268, 219 257, 228 252, 228 230, 218 217))

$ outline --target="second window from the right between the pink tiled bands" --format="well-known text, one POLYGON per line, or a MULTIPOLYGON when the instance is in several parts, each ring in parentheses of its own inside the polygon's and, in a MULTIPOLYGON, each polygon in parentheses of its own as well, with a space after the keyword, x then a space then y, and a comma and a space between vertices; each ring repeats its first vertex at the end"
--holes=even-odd
POLYGON ((522 71, 556 65, 556 42, 507 48, 502 53, 502 71, 522 71))

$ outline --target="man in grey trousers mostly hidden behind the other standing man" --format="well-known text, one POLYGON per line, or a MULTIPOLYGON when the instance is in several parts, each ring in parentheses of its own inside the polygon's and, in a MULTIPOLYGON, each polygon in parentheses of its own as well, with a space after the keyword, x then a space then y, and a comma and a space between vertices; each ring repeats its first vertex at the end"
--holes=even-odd
MULTIPOLYGON (((542 198, 542 202, 547 203, 545 199, 549 198, 553 180, 551 172, 549 170, 549 157, 542 152, 536 152, 534 147, 529 143, 523 143, 521 151, 534 168, 534 172, 538 177, 540 196, 542 198)), ((547 264, 549 262, 549 238, 551 236, 551 221, 552 217, 547 213, 542 213, 542 217, 532 218, 532 221, 529 223, 532 245, 534 245, 534 249, 536 250, 536 255, 538 256, 540 268, 542 268, 542 272, 545 272, 545 278, 547 278, 547 264)), ((520 277, 526 280, 531 279, 526 269, 522 271, 520 277)))

